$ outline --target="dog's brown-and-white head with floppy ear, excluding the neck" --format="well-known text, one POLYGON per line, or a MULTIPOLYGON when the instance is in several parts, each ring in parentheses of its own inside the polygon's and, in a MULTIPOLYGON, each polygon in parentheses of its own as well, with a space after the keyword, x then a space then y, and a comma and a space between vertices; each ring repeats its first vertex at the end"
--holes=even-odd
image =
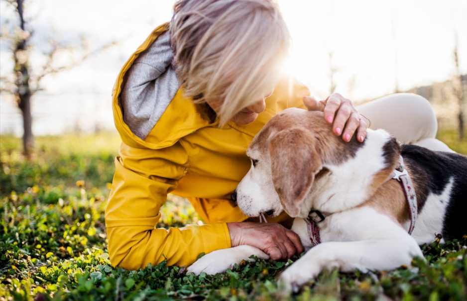
POLYGON ((308 214, 302 203, 323 168, 320 140, 309 128, 310 114, 285 110, 253 139, 246 151, 251 168, 236 190, 236 201, 245 214, 276 216, 283 209, 292 217, 308 214))

